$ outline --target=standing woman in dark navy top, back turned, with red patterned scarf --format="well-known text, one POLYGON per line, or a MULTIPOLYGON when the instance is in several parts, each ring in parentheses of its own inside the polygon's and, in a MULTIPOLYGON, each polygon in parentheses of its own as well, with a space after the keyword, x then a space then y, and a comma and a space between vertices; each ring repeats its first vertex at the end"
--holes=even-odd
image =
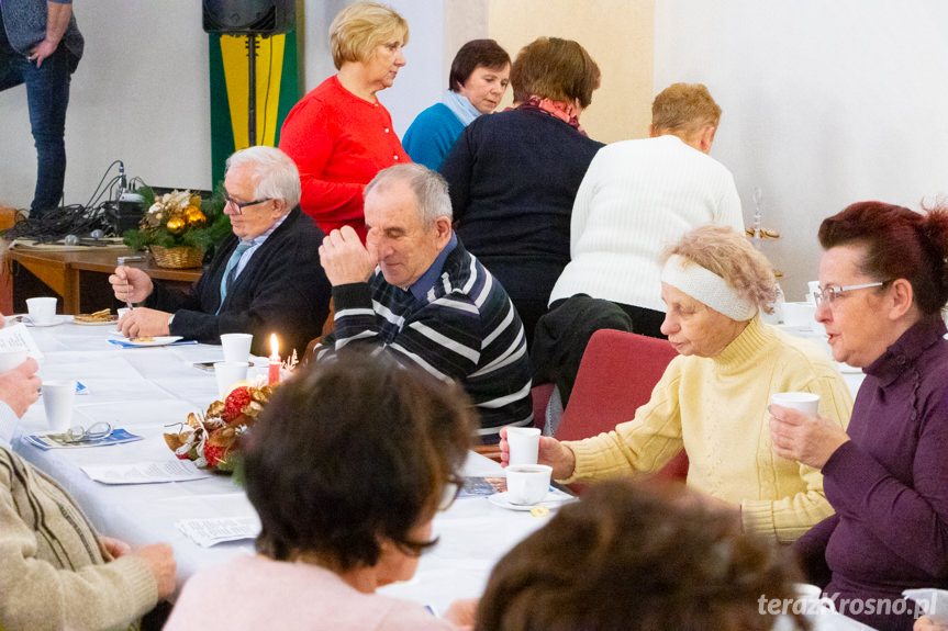
POLYGON ((572 203, 603 146, 579 127, 599 80, 578 43, 539 37, 511 69, 521 104, 468 125, 440 167, 457 234, 510 294, 527 343, 569 262, 572 203))

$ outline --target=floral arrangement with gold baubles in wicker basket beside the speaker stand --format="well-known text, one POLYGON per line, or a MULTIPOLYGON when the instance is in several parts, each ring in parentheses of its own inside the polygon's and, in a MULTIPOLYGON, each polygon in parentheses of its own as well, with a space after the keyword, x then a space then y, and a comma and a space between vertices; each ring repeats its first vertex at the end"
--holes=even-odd
POLYGON ((155 195, 143 187, 136 191, 148 210, 138 229, 125 230, 125 245, 135 250, 150 246, 194 248, 202 252, 221 243, 231 233, 231 218, 224 214, 224 192, 218 187, 208 200, 191 191, 171 191, 155 195))

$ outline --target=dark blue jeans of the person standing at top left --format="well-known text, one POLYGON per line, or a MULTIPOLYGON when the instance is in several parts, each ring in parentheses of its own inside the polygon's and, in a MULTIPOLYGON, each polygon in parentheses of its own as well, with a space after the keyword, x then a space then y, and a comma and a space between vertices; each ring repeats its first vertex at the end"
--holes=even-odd
POLYGON ((43 60, 37 68, 10 46, 0 16, 0 91, 21 83, 26 86, 30 126, 36 146, 36 189, 31 215, 59 205, 66 179, 66 108, 69 104, 69 78, 75 57, 65 46, 43 60))

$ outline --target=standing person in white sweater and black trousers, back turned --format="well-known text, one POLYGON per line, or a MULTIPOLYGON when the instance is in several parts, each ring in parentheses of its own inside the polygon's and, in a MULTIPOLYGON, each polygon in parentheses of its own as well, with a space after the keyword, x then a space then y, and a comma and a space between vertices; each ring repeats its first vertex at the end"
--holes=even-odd
POLYGON ((674 83, 655 98, 651 112, 651 137, 601 149, 577 192, 571 260, 532 351, 535 383, 554 381, 565 397, 595 330, 663 337, 659 260, 666 247, 705 224, 744 232, 734 178, 707 155, 721 120, 707 88, 674 83))

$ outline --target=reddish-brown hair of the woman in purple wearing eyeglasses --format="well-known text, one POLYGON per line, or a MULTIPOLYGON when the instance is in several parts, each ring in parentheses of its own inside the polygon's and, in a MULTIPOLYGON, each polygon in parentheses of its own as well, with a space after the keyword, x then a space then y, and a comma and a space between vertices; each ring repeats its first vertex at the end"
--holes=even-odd
POLYGON ((823 219, 819 245, 826 250, 865 246, 863 274, 879 281, 907 280, 918 311, 936 314, 948 302, 948 209, 943 203, 924 210, 857 202, 823 219))

